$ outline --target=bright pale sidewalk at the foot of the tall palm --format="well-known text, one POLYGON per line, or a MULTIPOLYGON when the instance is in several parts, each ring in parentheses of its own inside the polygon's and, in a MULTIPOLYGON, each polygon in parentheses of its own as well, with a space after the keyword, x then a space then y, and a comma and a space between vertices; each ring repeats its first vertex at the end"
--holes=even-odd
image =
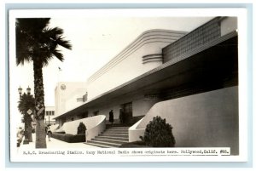
MULTIPOLYGON (((24 139, 24 138, 23 138, 24 139)), ((36 142, 36 134, 32 134, 32 142, 29 144, 23 145, 23 140, 20 143, 20 147, 18 151, 26 151, 26 150, 33 150, 35 149, 35 142, 36 142)), ((48 140, 48 137, 46 137, 46 145, 47 149, 55 149, 55 148, 99 148, 92 145, 85 145, 84 143, 67 143, 65 141, 56 140, 54 138, 50 138, 50 141, 48 140)))

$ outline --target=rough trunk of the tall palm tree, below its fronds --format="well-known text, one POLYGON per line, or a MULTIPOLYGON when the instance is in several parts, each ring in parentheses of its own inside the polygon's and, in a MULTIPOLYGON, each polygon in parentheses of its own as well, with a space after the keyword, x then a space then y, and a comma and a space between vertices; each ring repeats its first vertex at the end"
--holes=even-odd
POLYGON ((44 83, 43 83, 43 64, 40 58, 33 60, 34 70, 34 92, 37 120, 36 126, 36 148, 46 148, 45 124, 44 124, 44 83))

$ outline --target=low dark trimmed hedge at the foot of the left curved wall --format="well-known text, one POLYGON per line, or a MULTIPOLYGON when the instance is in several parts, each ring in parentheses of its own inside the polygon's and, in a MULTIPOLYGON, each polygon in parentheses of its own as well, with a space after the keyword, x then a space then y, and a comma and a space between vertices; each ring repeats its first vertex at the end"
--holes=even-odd
POLYGON ((57 134, 53 133, 52 138, 57 140, 62 140, 68 143, 77 143, 77 142, 85 142, 85 134, 57 134))

